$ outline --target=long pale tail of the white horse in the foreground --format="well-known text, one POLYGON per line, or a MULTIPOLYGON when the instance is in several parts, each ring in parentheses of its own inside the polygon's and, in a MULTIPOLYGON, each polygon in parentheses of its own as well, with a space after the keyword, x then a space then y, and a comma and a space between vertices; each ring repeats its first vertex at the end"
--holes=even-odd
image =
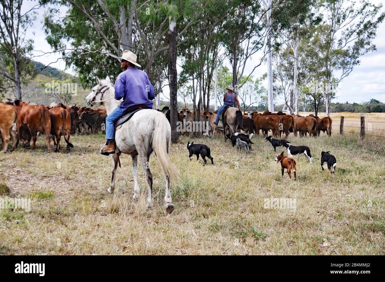
POLYGON ((168 148, 171 142, 171 136, 167 136, 167 127, 170 127, 167 118, 162 113, 154 117, 154 135, 152 137, 152 148, 161 163, 162 169, 168 175, 172 184, 179 182, 179 173, 169 159, 168 148))

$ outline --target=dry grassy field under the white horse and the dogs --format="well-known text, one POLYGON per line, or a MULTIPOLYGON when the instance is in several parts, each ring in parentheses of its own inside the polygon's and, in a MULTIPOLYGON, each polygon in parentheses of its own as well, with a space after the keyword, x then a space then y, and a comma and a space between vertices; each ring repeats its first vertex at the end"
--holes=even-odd
MULTIPOLYGON (((340 115, 348 119, 348 113, 333 114, 338 128, 340 115)), ((70 153, 50 154, 39 137, 36 150, 19 146, 0 156, 1 197, 31 199, 29 212, 0 209, 0 254, 382 255, 385 138, 358 137, 291 134, 288 140, 309 146, 314 159, 310 164, 295 156, 296 181, 286 172, 281 179, 274 159, 283 149, 275 153, 261 136, 252 137, 251 155, 222 137, 194 140, 211 148, 214 165, 206 167, 202 160, 189 161, 186 144, 192 138, 181 137, 171 147, 182 177, 181 186, 172 187, 171 215, 164 209, 164 179, 154 154, 154 209, 148 210, 142 169, 141 198, 132 199, 129 156, 121 157, 118 191, 107 194, 111 164, 99 153, 103 135, 71 136, 70 153), (321 151, 335 155, 334 175, 321 170, 321 151), (271 197, 295 199, 295 209, 264 208, 271 197)))

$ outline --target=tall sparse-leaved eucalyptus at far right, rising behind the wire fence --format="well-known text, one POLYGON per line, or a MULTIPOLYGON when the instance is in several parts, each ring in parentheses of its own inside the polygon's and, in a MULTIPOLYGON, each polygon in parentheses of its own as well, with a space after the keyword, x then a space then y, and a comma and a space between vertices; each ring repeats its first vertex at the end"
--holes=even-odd
MULTIPOLYGON (((325 85, 335 85, 347 77, 360 64, 360 58, 377 50, 372 43, 377 28, 385 18, 380 12, 382 4, 374 5, 366 0, 320 0, 323 24, 318 28, 314 52, 322 63, 320 73, 325 85), (333 78, 335 80, 333 81, 333 78)), ((320 83, 323 83, 322 81, 320 83)), ((330 92, 325 88, 326 115, 330 117, 330 92)))

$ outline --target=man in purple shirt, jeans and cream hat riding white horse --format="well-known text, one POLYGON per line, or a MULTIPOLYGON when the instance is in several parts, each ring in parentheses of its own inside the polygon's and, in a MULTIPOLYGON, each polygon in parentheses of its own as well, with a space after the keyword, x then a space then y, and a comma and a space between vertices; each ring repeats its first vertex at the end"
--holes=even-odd
POLYGON ((123 102, 115 108, 105 119, 105 145, 100 149, 102 155, 115 154, 115 122, 126 113, 140 108, 152 108, 155 98, 154 87, 148 79, 147 73, 137 69, 136 55, 131 51, 124 51, 121 57, 121 67, 124 72, 119 73, 115 81, 115 99, 123 102))

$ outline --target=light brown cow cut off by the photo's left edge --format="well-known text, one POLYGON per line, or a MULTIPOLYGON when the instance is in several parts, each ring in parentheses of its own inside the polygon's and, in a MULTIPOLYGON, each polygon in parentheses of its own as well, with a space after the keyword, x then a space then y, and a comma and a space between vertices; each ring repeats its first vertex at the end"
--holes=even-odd
POLYGON ((14 106, 0 103, 0 136, 3 141, 3 149, 0 153, 6 153, 8 143, 12 137, 12 147, 10 152, 15 150, 19 144, 19 134, 17 131, 17 110, 14 106))

